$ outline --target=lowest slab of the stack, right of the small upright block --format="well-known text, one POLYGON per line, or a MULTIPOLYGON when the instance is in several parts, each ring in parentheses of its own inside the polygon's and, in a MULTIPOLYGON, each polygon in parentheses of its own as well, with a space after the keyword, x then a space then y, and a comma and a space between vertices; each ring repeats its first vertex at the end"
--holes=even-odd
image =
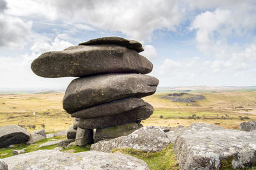
POLYGON ((141 124, 131 122, 128 124, 116 125, 114 127, 96 129, 94 134, 94 143, 97 143, 97 141, 102 141, 104 139, 113 139, 120 136, 127 136, 142 126, 143 125, 141 124))

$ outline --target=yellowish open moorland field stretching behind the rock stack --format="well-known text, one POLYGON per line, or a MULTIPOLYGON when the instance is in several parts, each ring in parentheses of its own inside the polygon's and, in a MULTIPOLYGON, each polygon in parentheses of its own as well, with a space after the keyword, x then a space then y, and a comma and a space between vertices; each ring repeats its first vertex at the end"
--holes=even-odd
MULTIPOLYGON (((196 93, 198 94, 198 93, 196 93)), ((199 93, 205 99, 196 103, 174 103, 161 99, 166 93, 156 93, 143 99, 154 106, 154 113, 143 125, 177 127, 195 122, 236 128, 239 123, 256 120, 256 92, 216 92, 199 93)), ((1 94, 0 126, 10 124, 36 125, 35 129, 59 131, 67 129, 73 123, 62 108, 63 93, 49 94, 1 94)))

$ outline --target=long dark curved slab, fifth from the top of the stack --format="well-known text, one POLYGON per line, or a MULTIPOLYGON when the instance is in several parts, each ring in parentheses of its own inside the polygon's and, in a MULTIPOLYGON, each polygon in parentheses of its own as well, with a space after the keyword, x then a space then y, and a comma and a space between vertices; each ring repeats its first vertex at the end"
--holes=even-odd
POLYGON ((129 122, 140 122, 141 120, 145 120, 150 117, 154 111, 150 104, 146 104, 146 106, 142 106, 125 113, 120 113, 118 115, 87 119, 81 118, 78 121, 78 127, 83 129, 102 129, 115 125, 126 124, 129 122))

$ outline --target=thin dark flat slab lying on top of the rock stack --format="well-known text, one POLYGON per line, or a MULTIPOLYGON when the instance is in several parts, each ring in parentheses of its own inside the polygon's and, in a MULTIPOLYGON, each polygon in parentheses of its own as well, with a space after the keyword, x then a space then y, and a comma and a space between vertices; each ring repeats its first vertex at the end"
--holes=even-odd
POLYGON ((96 38, 83 43, 79 43, 79 45, 106 45, 106 44, 125 46, 132 50, 135 50, 136 52, 144 51, 141 43, 139 43, 138 41, 124 39, 116 36, 96 38))

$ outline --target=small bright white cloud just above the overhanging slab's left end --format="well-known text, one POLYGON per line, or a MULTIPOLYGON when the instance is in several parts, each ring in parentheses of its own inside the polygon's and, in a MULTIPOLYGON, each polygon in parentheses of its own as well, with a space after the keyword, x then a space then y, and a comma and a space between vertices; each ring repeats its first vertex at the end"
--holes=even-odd
POLYGON ((35 41, 34 45, 31 47, 31 51, 33 53, 60 51, 69 46, 73 46, 72 43, 55 38, 51 43, 48 43, 47 41, 35 41))

